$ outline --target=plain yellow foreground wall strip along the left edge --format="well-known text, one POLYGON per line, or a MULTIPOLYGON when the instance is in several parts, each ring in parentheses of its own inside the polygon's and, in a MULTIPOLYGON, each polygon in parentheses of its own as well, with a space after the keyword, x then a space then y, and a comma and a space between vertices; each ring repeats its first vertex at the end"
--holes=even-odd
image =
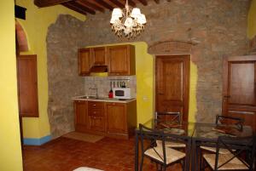
POLYGON ((0 170, 22 170, 16 81, 15 3, 0 3, 0 170))

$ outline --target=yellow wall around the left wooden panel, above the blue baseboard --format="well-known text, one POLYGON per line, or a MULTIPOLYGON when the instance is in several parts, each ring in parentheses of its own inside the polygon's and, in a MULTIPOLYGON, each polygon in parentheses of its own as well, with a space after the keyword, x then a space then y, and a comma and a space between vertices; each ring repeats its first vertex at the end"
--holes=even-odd
POLYGON ((29 51, 23 54, 38 55, 38 118, 23 118, 24 138, 42 138, 49 135, 48 78, 46 36, 48 27, 54 23, 59 14, 72 14, 79 20, 85 16, 61 5, 38 9, 32 0, 16 0, 16 4, 26 8, 26 20, 18 20, 26 31, 29 51))

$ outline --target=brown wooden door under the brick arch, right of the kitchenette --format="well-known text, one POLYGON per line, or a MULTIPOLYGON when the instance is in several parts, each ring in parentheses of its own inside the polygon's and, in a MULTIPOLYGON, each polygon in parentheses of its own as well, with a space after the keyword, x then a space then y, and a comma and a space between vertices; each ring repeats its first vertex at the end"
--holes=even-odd
POLYGON ((156 56, 156 111, 179 111, 188 122, 189 54, 156 56))

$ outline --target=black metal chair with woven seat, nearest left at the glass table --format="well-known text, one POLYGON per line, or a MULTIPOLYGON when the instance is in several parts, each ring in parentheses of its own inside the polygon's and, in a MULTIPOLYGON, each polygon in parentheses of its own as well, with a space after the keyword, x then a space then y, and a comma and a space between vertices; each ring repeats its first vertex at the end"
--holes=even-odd
MULTIPOLYGON (((166 148, 166 135, 161 130, 147 128, 142 124, 139 125, 139 138, 141 140, 142 159, 140 163, 140 171, 143 171, 144 157, 148 157, 156 163, 156 170, 166 170, 166 168, 174 163, 181 163, 184 169, 186 154, 166 148), (155 145, 156 140, 161 140, 162 145, 155 145), (164 147, 164 148, 163 148, 164 147)), ((169 136, 170 138, 170 136, 169 136)))

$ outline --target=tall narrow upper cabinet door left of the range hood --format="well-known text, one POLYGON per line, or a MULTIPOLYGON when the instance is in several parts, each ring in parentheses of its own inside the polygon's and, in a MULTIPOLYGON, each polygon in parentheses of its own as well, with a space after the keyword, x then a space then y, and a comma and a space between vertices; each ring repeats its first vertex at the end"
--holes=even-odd
POLYGON ((79 49, 79 75, 90 74, 90 48, 79 49))

